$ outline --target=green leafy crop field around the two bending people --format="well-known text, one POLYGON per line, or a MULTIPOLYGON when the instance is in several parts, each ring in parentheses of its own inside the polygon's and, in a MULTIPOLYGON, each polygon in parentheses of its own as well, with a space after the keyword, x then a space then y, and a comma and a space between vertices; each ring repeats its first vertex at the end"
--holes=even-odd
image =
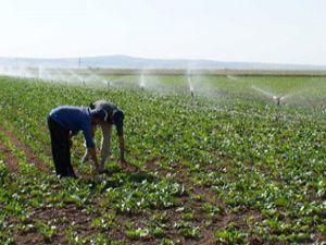
POLYGON ((325 77, 95 78, 0 77, 0 244, 326 243, 325 77), (60 180, 47 115, 98 99, 125 111, 138 170, 114 130, 106 174, 80 163, 79 134, 80 177, 60 180))

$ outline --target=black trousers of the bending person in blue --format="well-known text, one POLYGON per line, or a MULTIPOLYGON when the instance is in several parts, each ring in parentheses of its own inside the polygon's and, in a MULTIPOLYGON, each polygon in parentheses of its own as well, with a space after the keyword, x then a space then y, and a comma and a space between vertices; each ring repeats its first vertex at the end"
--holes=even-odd
POLYGON ((48 118, 48 126, 57 174, 60 176, 75 175, 71 163, 70 132, 50 117, 48 118))

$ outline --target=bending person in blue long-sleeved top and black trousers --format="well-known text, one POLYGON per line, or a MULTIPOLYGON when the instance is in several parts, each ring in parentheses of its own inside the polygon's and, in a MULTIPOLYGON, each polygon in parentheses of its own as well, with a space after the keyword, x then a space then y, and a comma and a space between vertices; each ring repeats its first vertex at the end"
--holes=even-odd
POLYGON ((93 142, 92 128, 103 124, 108 113, 104 110, 90 110, 79 107, 59 107, 48 117, 48 126, 51 136, 52 156, 55 172, 60 177, 76 177, 71 163, 72 137, 83 131, 87 154, 91 157, 95 169, 99 172, 98 158, 93 142))

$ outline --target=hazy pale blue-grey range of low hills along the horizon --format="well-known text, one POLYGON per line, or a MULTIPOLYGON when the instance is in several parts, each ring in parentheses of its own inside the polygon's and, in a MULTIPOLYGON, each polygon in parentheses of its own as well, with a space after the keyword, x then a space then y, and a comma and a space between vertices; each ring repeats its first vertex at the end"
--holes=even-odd
POLYGON ((100 68, 154 70, 326 70, 326 65, 222 62, 212 60, 163 60, 127 56, 86 57, 67 59, 0 58, 0 66, 100 68))

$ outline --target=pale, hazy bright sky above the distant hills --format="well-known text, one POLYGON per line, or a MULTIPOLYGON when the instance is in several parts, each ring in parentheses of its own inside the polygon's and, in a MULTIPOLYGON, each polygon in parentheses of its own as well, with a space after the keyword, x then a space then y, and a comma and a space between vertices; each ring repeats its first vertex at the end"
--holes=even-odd
POLYGON ((0 0, 0 57, 326 65, 325 0, 0 0))

